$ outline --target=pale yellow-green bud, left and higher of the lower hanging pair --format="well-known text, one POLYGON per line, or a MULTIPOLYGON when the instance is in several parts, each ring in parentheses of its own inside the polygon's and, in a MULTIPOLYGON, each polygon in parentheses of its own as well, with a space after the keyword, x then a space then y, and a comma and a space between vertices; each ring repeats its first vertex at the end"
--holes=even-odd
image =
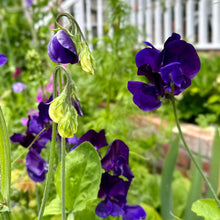
POLYGON ((64 89, 61 94, 50 103, 49 116, 56 123, 59 123, 64 117, 64 111, 67 106, 65 99, 66 91, 64 89))

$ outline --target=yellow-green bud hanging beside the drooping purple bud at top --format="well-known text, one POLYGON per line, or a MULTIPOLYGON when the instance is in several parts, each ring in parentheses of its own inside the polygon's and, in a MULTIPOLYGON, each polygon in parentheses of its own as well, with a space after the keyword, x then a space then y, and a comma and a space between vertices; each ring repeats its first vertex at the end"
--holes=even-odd
POLYGON ((80 64, 82 69, 89 73, 94 74, 94 58, 89 51, 89 48, 87 46, 84 46, 82 51, 79 54, 80 64))

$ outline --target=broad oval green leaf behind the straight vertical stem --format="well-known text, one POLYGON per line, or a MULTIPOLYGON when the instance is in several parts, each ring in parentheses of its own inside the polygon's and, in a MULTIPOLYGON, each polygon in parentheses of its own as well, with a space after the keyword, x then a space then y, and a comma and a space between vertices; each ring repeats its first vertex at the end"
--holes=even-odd
MULTIPOLYGON (((97 198, 102 169, 98 153, 88 142, 71 151, 65 159, 65 203, 70 211, 81 211, 89 200, 97 198)), ((61 164, 59 164, 55 185, 61 197, 61 164)))

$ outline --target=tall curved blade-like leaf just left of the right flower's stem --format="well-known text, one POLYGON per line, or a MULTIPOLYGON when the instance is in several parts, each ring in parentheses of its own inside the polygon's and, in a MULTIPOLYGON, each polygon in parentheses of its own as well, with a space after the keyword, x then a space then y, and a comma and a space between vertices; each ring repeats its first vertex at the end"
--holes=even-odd
POLYGON ((179 136, 173 141, 170 150, 166 156, 162 171, 161 180, 161 215, 163 220, 172 220, 173 201, 172 201, 172 180, 179 151, 179 136))

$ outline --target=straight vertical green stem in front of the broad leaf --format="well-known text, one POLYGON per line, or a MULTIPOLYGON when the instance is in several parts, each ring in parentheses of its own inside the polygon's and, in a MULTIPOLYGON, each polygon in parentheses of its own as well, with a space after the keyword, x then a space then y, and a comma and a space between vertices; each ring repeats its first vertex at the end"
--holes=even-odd
POLYGON ((66 140, 61 139, 61 210, 62 220, 66 219, 65 210, 65 153, 66 153, 66 140))

